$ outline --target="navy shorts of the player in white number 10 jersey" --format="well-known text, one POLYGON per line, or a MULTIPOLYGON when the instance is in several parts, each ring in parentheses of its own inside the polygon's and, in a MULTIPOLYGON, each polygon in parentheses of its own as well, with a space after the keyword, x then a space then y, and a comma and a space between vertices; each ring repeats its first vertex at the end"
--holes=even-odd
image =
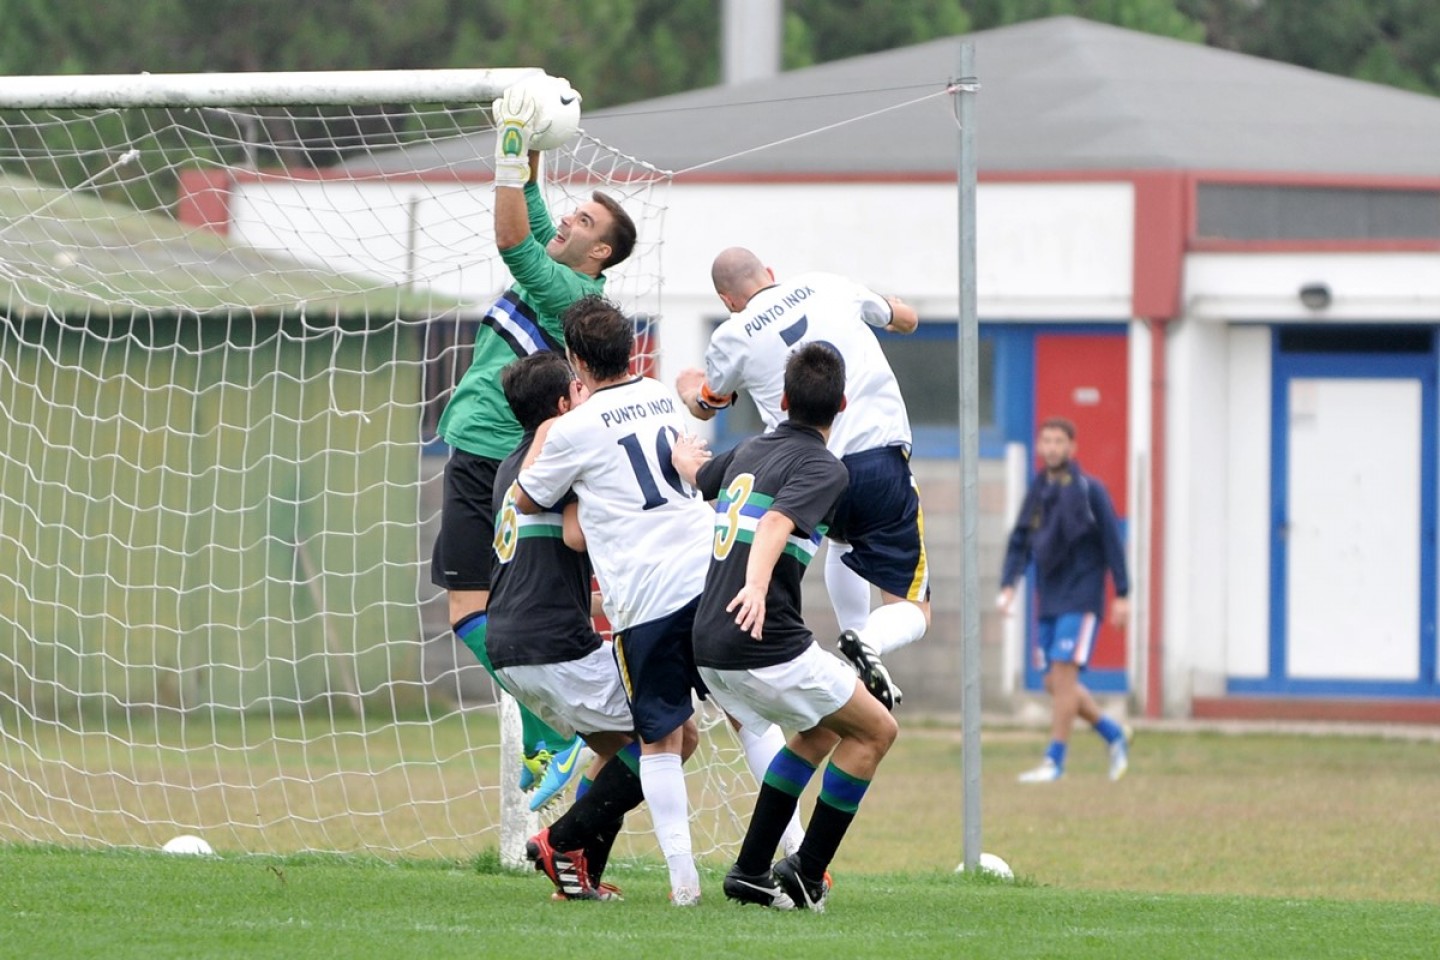
POLYGON ((696 597, 670 616, 615 635, 615 664, 621 668, 635 733, 644 743, 655 743, 690 720, 696 712, 691 691, 701 699, 710 694, 696 671, 690 639, 698 607, 696 597))

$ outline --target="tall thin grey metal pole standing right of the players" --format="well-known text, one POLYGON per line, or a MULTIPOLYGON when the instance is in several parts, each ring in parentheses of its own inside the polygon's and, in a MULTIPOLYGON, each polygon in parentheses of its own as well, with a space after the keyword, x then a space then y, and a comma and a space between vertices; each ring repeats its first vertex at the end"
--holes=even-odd
POLYGON ((960 42, 955 82, 960 124, 960 689, 965 783, 965 869, 981 859, 981 590, 979 590, 979 322, 975 315, 975 47, 960 42))

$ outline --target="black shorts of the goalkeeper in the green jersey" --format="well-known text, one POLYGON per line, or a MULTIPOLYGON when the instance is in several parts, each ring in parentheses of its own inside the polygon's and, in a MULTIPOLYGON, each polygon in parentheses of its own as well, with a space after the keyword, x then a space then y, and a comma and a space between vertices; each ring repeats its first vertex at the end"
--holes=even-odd
POLYGON ((454 450, 445 463, 441 533, 431 553, 431 583, 446 590, 488 590, 495 558, 495 471, 500 461, 454 450))

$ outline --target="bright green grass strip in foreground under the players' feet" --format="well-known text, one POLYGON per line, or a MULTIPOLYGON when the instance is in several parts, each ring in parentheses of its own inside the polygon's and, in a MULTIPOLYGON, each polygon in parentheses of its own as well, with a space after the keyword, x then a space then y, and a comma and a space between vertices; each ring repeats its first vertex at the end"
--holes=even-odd
POLYGON ((360 858, 171 858, 0 848, 0 956, 14 957, 1431 957, 1433 905, 1146 895, 948 871, 841 878, 829 911, 708 892, 665 902, 621 864, 624 904, 557 904, 534 875, 360 858))

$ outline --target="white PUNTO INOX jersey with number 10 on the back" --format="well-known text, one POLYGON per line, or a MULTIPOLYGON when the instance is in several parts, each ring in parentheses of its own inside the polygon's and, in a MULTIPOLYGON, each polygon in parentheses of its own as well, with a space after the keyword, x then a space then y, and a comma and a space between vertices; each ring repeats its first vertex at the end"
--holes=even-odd
POLYGON ((567 489, 616 630, 674 613, 706 584, 714 512, 670 463, 688 415, 671 387, 635 377, 550 425, 520 486, 543 507, 567 489))

